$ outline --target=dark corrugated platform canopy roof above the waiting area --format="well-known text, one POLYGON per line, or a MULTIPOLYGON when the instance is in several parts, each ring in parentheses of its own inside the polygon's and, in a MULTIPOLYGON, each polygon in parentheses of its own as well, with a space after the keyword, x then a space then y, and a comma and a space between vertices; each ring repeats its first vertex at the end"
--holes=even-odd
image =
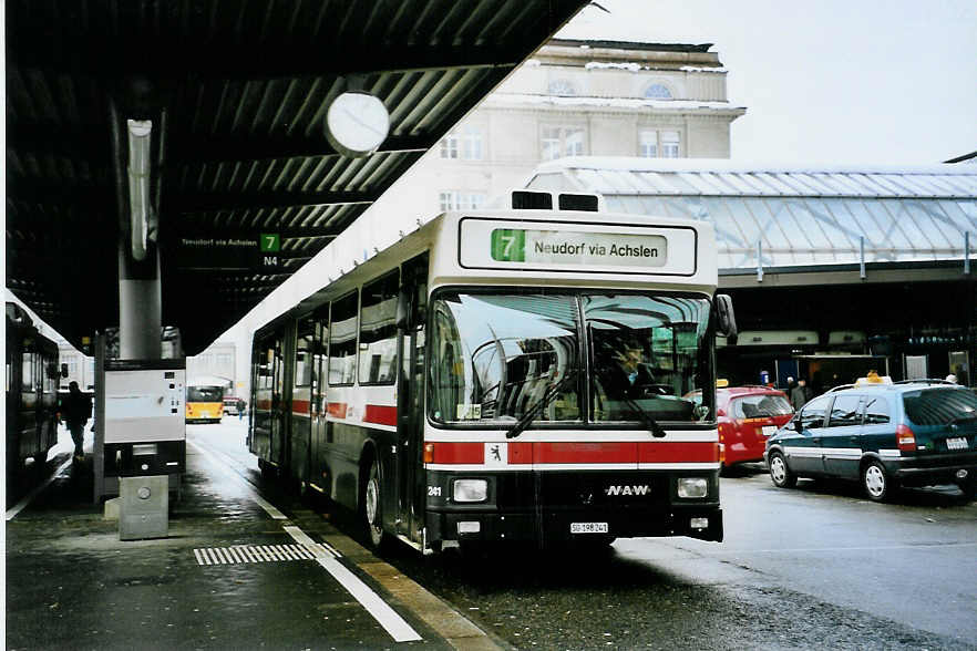
POLYGON ((117 327, 128 155, 113 131, 152 118, 163 323, 194 354, 586 3, 8 0, 7 286, 75 345, 117 327), (368 157, 327 142, 344 90, 390 114, 368 157), (274 270, 181 266, 184 239, 265 232, 274 270))

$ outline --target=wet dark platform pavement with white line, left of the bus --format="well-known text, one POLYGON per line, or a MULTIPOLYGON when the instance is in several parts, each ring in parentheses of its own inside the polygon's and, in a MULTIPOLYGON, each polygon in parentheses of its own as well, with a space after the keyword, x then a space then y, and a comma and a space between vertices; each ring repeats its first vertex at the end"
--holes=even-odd
POLYGON ((320 514, 257 497, 194 438, 166 538, 120 541, 78 463, 7 521, 8 649, 500 648, 320 514))

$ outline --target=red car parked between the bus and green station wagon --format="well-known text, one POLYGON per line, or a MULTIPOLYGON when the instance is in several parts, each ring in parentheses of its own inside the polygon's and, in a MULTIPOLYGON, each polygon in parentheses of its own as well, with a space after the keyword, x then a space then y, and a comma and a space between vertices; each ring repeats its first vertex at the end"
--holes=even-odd
MULTIPOLYGON (((693 400, 701 400, 695 392, 693 400)), ((716 390, 719 442, 723 464, 763 461, 767 438, 791 420, 794 410, 783 391, 769 386, 721 386, 716 390)))

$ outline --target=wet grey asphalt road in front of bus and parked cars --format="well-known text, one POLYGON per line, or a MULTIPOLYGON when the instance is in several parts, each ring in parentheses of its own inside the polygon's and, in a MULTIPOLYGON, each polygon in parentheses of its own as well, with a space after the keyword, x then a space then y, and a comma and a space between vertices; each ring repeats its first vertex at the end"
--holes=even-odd
POLYGON ((977 503, 955 487, 878 505, 844 483, 778 489, 753 465, 722 479, 722 544, 383 558, 518 649, 977 649, 977 503))

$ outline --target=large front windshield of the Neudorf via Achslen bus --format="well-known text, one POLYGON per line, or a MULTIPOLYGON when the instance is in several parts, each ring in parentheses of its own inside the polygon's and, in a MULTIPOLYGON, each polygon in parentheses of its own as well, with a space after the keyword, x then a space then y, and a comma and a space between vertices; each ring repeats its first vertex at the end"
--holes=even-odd
POLYGON ((441 292, 430 415, 506 427, 527 412, 554 423, 703 420, 711 391, 705 407, 681 396, 712 384, 709 310, 705 297, 441 292))

